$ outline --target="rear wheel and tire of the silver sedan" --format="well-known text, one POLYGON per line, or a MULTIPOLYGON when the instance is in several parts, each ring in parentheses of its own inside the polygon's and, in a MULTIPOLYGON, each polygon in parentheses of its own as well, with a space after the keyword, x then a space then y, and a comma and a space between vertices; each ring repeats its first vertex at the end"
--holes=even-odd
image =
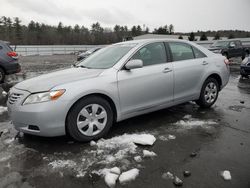
POLYGON ((202 108, 210 108, 219 95, 219 84, 216 79, 208 78, 202 86, 199 99, 196 101, 202 108))

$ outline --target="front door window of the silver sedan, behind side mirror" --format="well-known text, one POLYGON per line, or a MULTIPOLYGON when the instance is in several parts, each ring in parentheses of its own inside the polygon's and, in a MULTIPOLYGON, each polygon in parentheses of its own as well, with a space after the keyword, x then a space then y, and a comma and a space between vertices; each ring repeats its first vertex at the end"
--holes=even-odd
POLYGON ((138 50, 131 59, 140 59, 143 66, 167 62, 165 46, 162 42, 148 44, 138 50))

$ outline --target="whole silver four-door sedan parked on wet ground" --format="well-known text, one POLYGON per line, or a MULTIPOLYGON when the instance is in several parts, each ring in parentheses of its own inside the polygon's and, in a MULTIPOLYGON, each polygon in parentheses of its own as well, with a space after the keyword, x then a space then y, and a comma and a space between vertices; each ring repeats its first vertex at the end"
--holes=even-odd
POLYGON ((228 60, 195 43, 129 41, 15 85, 7 105, 18 131, 89 141, 140 114, 191 100, 208 108, 228 80, 228 60))

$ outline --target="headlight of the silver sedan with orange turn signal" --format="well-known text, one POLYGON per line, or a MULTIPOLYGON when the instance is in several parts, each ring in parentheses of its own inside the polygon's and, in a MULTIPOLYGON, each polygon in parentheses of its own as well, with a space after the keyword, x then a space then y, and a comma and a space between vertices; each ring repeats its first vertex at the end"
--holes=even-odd
POLYGON ((25 99, 23 105, 57 100, 64 92, 64 89, 60 89, 56 91, 31 94, 25 99))

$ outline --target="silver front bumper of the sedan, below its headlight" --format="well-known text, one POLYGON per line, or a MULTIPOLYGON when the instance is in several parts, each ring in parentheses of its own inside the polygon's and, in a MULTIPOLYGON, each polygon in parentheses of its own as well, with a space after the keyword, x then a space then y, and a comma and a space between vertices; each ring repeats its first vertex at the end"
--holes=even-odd
POLYGON ((65 119, 68 112, 65 101, 22 105, 30 95, 29 92, 12 88, 9 95, 8 112, 16 130, 46 137, 65 135, 65 119), (10 101, 13 94, 20 94, 14 103, 10 101))

